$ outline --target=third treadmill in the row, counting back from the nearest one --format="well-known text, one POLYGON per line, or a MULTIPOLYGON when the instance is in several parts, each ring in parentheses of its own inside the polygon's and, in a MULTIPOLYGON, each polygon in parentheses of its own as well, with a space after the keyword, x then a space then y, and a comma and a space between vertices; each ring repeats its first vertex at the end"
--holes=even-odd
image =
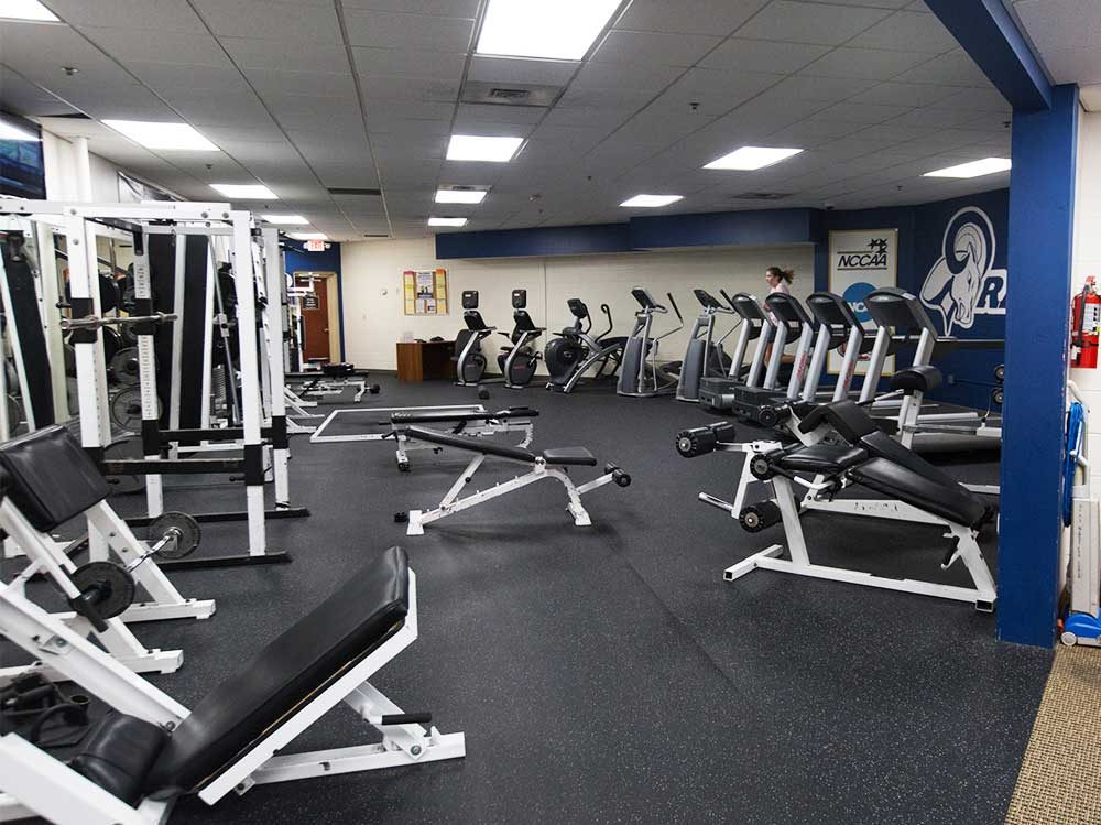
MULTIPOLYGON (((789 405, 799 400, 799 392, 807 374, 807 357, 815 338, 816 323, 798 298, 787 293, 774 292, 764 301, 776 319, 776 338, 772 346, 772 358, 768 359, 768 371, 761 387, 746 384, 734 389, 732 410, 740 419, 761 426, 775 426, 791 415, 789 405), (784 349, 796 336, 798 346, 795 349, 795 360, 785 392, 777 387, 780 370, 784 349)), ((817 386, 817 381, 815 383, 817 386)))

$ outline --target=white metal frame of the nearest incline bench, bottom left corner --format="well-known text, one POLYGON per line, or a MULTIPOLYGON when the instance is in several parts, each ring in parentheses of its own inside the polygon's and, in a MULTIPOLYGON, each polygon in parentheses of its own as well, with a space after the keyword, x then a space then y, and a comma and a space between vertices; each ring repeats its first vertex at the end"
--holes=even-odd
MULTIPOLYGON (((57 671, 120 713, 175 727, 189 710, 75 633, 64 622, 0 585, 0 634, 54 663, 57 671)), ((402 709, 370 679, 417 637, 416 576, 408 574, 408 614, 403 627, 333 685, 208 783, 198 796, 212 805, 230 792, 257 784, 379 770, 466 756, 462 734, 440 734, 417 724, 382 725, 402 709), (382 734, 378 745, 283 755, 296 737, 345 702, 382 734), (279 755, 277 755, 279 753, 279 755), (277 755, 277 756, 276 756, 277 755)), ((143 800, 133 807, 17 734, 0 737, 0 822, 44 816, 57 825, 161 825, 172 802, 143 800)))

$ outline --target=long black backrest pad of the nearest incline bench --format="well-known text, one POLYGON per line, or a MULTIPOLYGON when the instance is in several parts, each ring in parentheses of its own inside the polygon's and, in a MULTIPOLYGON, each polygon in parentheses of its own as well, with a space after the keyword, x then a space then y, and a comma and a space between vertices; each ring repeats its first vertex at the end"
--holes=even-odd
POLYGON ((203 698, 145 782, 164 799, 198 790, 401 629, 408 560, 391 547, 203 698))

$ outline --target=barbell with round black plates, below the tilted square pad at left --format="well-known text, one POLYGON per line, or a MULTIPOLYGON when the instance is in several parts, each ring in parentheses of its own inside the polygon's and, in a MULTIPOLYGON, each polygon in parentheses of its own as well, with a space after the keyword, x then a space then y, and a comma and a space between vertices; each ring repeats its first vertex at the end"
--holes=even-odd
POLYGON ((88 562, 73 571, 69 578, 79 591, 69 598, 69 606, 91 621, 97 630, 107 630, 107 619, 113 619, 134 601, 138 586, 133 572, 154 555, 183 558, 195 552, 201 532, 194 518, 182 512, 166 512, 149 525, 152 543, 144 553, 127 566, 115 562, 88 562), (155 536, 155 540, 153 539, 155 536))

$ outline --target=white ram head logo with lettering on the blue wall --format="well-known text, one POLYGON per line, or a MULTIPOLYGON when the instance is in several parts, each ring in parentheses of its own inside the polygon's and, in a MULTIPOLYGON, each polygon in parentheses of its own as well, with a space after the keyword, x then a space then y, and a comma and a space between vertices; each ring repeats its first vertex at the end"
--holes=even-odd
POLYGON ((922 303, 945 335, 970 329, 977 315, 1005 314, 1004 269, 993 269, 996 239, 990 217, 975 206, 956 213, 945 229, 940 260, 922 286, 922 303))

